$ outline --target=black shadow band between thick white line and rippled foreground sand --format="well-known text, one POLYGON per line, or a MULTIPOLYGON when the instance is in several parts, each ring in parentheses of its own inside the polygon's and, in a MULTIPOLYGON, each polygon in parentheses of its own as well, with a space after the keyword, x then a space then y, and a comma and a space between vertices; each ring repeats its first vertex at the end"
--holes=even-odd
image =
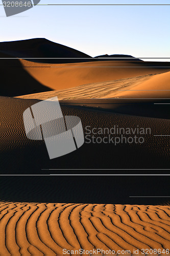
POLYGON ((168 203, 167 198, 159 197, 168 195, 169 180, 160 176, 10 176, 1 177, 0 184, 0 200, 12 202, 168 203))

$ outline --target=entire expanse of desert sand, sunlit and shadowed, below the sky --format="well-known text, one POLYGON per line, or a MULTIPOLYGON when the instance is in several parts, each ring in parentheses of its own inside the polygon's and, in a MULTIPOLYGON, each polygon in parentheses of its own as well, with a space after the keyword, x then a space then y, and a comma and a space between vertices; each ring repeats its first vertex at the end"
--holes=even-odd
POLYGON ((163 255, 170 250, 169 179, 152 176, 153 170, 169 172, 169 137, 160 136, 170 132, 169 62, 91 60, 42 38, 3 42, 0 49, 1 57, 17 57, 0 60, 0 172, 5 175, 0 255, 63 255, 63 249, 74 255, 80 248, 120 255, 160 249, 163 255), (23 55, 42 59, 20 59, 23 55), (44 141, 26 137, 23 112, 54 96, 64 116, 81 118, 84 135, 87 125, 91 130, 143 127, 151 133, 143 144, 86 143, 85 138, 79 150, 50 160, 44 141), (83 169, 92 176, 84 176, 83 169), (133 176, 141 170, 148 176, 133 176))

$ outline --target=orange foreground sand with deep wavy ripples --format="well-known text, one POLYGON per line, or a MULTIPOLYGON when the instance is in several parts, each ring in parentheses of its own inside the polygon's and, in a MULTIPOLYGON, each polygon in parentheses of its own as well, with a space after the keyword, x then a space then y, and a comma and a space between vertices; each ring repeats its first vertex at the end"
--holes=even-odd
POLYGON ((170 206, 0 203, 0 255, 169 249, 170 206))

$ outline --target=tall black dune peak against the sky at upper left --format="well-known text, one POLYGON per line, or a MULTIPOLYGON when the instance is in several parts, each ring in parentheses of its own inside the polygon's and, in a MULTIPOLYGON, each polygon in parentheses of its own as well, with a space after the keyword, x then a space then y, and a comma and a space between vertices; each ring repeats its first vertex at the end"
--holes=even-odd
POLYGON ((33 38, 27 40, 9 41, 0 43, 0 51, 18 58, 69 58, 69 59, 29 59, 30 61, 43 63, 72 63, 89 61, 84 58, 91 56, 57 44, 45 38, 33 38), (73 58, 73 59, 71 59, 73 58), (80 58, 80 59, 74 59, 80 58), (81 59, 83 58, 83 59, 81 59))

